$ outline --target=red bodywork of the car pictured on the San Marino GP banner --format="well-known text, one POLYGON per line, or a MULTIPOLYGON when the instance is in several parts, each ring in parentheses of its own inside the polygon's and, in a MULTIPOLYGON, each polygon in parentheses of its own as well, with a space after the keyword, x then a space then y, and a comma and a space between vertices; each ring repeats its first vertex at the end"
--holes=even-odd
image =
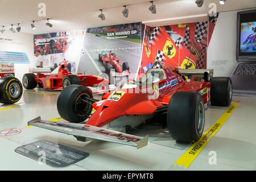
POLYGON ((112 65, 112 67, 115 68, 115 71, 118 73, 130 73, 130 71, 125 70, 123 71, 122 67, 119 64, 119 58, 117 57, 117 55, 113 55, 112 51, 109 52, 109 55, 105 54, 101 56, 101 59, 103 61, 104 66, 109 63, 112 65))

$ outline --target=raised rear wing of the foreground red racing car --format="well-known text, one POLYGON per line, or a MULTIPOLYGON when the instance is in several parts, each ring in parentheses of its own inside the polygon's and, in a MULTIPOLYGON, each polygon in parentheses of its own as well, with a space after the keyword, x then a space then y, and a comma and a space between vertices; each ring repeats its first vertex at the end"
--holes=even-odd
POLYGON ((206 81, 213 77, 213 69, 179 69, 179 72, 184 76, 203 77, 206 81))

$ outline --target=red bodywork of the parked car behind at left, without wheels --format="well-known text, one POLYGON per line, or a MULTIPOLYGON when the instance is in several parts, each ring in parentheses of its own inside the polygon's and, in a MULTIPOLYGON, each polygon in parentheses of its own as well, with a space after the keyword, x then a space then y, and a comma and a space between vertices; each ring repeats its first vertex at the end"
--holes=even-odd
MULTIPOLYGON (((73 75, 73 73, 67 71, 67 66, 67 61, 63 61, 63 63, 60 64, 59 71, 56 74, 44 75, 43 73, 40 73, 39 75, 35 76, 35 81, 38 82, 40 88, 63 89, 63 78, 67 75, 73 75)), ((81 81, 81 85, 84 86, 93 87, 94 85, 98 84, 108 86, 110 82, 108 79, 104 77, 95 75, 83 75, 82 73, 77 73, 77 76, 81 81)))

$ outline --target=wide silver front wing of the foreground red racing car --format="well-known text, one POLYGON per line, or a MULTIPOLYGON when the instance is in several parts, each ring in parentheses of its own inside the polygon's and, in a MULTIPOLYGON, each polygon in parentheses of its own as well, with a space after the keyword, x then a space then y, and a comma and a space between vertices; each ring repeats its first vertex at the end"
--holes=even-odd
POLYGON ((85 125, 81 123, 69 123, 63 121, 44 121, 40 117, 35 118, 28 122, 28 126, 42 127, 59 133, 73 135, 74 137, 84 137, 97 140, 104 140, 107 142, 114 142, 120 144, 126 144, 129 146, 142 148, 147 146, 148 136, 142 138, 126 133, 120 133, 118 131, 107 130, 101 127, 85 125))

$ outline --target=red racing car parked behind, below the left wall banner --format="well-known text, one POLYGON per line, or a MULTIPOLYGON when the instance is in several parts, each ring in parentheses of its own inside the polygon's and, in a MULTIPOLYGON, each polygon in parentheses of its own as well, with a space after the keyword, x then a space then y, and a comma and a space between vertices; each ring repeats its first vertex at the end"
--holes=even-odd
POLYGON ((115 89, 113 85, 109 85, 110 81, 104 77, 83 75, 82 73, 73 75, 73 73, 68 72, 68 70, 69 64, 67 61, 63 61, 63 63, 55 68, 49 75, 44 75, 43 73, 39 73, 38 75, 34 75, 34 73, 24 74, 22 84, 26 89, 34 89, 37 85, 39 88, 44 89, 63 89, 73 84, 84 85, 90 88, 93 93, 101 93, 109 91, 109 89, 115 89), (95 86, 98 86, 98 88, 96 89, 95 86))

